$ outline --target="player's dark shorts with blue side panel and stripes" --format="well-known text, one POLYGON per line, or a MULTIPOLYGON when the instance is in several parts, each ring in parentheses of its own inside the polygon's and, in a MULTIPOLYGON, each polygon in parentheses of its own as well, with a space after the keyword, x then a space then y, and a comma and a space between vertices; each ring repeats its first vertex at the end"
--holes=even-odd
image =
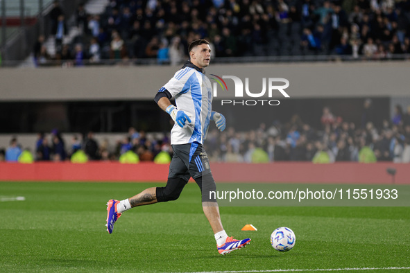
POLYGON ((203 145, 197 142, 172 145, 173 157, 169 165, 169 178, 182 178, 188 182, 211 173, 210 161, 203 145))

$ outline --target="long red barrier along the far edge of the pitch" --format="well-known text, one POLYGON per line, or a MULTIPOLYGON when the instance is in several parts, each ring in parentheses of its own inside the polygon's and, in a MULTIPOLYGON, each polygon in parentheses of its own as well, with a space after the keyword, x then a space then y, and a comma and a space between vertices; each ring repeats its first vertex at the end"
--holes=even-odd
MULTIPOLYGON (((395 168, 395 184, 410 184, 410 164, 276 162, 271 164, 212 163, 216 182, 391 184, 386 172, 395 168)), ((169 165, 151 162, 0 163, 0 181, 32 182, 165 182, 169 165)))

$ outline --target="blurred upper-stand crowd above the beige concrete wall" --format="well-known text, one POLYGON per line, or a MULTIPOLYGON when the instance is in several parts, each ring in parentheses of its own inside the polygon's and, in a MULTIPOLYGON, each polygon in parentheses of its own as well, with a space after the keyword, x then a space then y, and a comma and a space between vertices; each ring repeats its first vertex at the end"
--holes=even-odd
POLYGON ((410 1, 393 0, 110 0, 100 15, 76 11, 80 35, 62 44, 67 23, 55 1, 50 12, 56 54, 39 37, 37 63, 157 58, 178 64, 194 39, 216 57, 351 55, 385 59, 410 53, 410 1))

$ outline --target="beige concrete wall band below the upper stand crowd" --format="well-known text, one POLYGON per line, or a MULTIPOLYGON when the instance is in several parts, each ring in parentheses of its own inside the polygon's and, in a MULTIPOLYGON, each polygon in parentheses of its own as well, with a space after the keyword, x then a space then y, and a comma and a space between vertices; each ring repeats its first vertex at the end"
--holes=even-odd
MULTIPOLYGON (((180 67, 130 66, 2 69, 0 101, 153 100, 180 67), (51 80, 52 79, 52 80, 51 80), (113 80, 115 79, 115 80, 113 80)), ((286 78, 291 98, 409 96, 410 62, 212 64, 207 75, 237 76, 262 90, 263 78, 286 78)), ((217 98, 234 98, 233 80, 217 98), (228 91, 229 90, 229 91, 228 91)), ((268 98, 268 91, 262 98, 268 98)), ((273 91, 274 98, 283 98, 273 91)))

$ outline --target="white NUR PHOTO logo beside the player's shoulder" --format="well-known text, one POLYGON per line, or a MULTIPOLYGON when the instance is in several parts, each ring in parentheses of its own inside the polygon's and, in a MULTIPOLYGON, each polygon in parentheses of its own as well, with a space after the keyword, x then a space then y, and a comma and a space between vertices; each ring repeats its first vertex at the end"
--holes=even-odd
POLYGON ((211 74, 211 76, 215 77, 215 78, 211 78, 212 80, 215 80, 214 85, 212 87, 214 91, 214 98, 218 97, 218 85, 221 87, 223 91, 228 92, 228 86, 226 85, 226 82, 223 79, 233 80, 234 86, 235 86, 235 89, 234 89, 235 98, 247 98, 247 97, 248 98, 260 98, 260 99, 242 99, 242 100, 223 99, 221 100, 221 105, 242 105, 242 106, 244 105, 248 105, 248 106, 280 105, 279 100, 262 99, 262 97, 264 97, 266 94, 266 89, 268 91, 268 98, 272 98, 274 92, 277 92, 277 91, 279 91, 280 94, 282 94, 282 96, 284 96, 285 98, 290 98, 289 94, 287 94, 287 92, 284 91, 284 89, 287 89, 287 87, 289 87, 289 80, 285 78, 262 78, 262 91, 260 92, 252 91, 251 92, 249 90, 249 78, 245 78, 245 88, 244 88, 244 82, 237 76, 222 76, 222 78, 214 74, 211 74), (278 83, 282 83, 282 85, 278 85, 278 83), (266 88, 266 85, 268 85, 267 88, 266 88))

